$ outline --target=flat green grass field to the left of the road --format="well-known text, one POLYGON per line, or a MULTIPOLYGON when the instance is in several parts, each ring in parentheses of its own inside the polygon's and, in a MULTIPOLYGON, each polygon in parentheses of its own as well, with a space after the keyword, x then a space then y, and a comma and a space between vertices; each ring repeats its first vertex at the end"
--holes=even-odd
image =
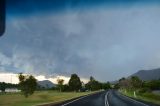
POLYGON ((87 95, 93 92, 57 92, 36 91, 33 95, 25 98, 20 93, 0 94, 0 106, 35 106, 44 103, 55 103, 67 99, 87 95))

